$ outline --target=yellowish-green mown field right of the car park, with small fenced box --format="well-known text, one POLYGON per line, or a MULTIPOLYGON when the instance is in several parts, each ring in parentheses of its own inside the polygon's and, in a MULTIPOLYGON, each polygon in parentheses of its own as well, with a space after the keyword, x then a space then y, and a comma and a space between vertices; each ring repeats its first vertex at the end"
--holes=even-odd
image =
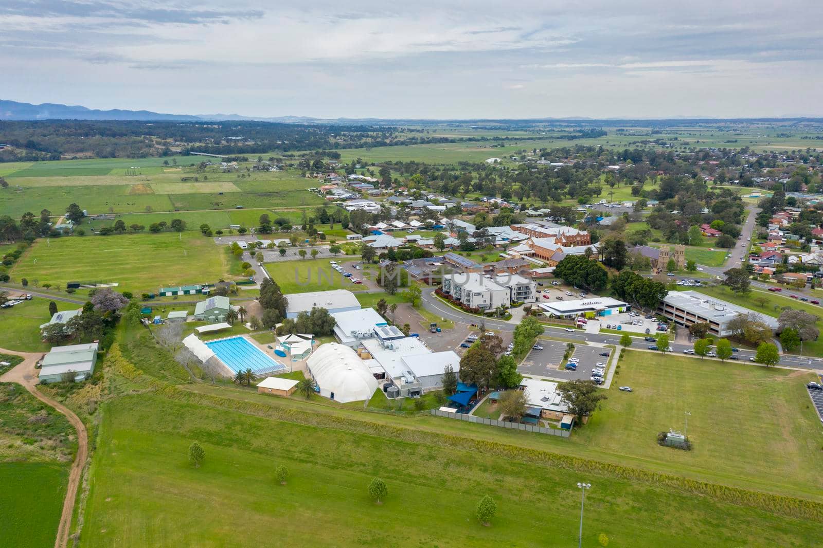
POLYGON ((805 384, 814 375, 788 369, 663 357, 628 351, 604 409, 575 430, 572 444, 666 462, 682 472, 711 473, 723 482, 797 495, 823 489, 820 421, 805 384), (689 411, 690 452, 663 448, 658 432, 683 430, 689 411))

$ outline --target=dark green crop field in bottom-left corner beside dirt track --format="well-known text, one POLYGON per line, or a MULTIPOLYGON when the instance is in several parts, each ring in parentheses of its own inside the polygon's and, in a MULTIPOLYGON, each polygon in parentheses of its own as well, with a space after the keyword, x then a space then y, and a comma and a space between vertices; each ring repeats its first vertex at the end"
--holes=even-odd
POLYGON ((0 546, 54 546, 67 482, 67 465, 0 462, 0 546))

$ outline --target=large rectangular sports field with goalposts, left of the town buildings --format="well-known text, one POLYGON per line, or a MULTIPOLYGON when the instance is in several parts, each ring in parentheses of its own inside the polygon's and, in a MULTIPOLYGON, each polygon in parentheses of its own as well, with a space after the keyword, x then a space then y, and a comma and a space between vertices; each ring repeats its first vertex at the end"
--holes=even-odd
POLYGON ((213 239, 191 232, 39 239, 11 274, 12 281, 36 279, 40 285, 116 281, 119 291, 151 292, 219 280, 228 273, 223 251, 213 239))

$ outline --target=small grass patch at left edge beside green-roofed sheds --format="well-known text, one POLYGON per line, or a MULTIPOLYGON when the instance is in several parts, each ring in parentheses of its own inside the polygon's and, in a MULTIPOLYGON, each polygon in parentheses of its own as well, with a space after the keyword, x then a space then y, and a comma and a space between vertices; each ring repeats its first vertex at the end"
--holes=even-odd
MULTIPOLYGON (((81 304, 54 302, 58 310, 81 308, 81 304)), ((49 300, 40 297, 0 310, 0 348, 18 352, 48 351, 51 345, 40 339, 40 325, 49 319, 49 300)))

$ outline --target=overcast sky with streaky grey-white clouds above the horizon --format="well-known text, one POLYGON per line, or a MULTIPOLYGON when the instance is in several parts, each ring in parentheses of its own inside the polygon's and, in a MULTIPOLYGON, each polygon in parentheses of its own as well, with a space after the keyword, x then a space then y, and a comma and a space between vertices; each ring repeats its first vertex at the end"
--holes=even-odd
POLYGON ((391 3, 2 0, 0 99, 322 118, 823 115, 821 0, 391 3))

